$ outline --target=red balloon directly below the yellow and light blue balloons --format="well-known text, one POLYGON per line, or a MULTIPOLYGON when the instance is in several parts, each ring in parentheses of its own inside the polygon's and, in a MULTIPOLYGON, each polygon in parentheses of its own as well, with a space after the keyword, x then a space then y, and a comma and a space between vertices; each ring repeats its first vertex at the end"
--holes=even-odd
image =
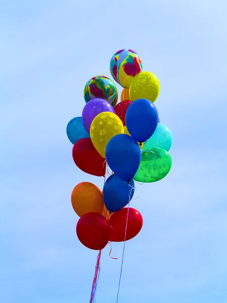
POLYGON ((105 175, 106 161, 99 155, 90 138, 80 139, 74 144, 73 160, 85 173, 97 177, 105 175))

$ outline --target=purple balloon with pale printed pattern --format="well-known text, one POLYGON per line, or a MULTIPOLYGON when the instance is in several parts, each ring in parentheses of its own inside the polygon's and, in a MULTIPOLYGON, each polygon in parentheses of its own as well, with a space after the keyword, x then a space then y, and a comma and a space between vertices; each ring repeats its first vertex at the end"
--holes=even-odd
POLYGON ((94 98, 85 105, 82 112, 82 121, 89 134, 92 121, 98 114, 103 112, 111 112, 115 114, 113 107, 104 99, 94 98))

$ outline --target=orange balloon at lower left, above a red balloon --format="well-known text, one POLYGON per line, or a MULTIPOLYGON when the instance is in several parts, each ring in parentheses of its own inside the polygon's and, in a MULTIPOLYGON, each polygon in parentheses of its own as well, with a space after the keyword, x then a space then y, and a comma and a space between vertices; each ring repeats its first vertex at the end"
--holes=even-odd
POLYGON ((102 193, 97 186, 90 182, 79 183, 72 192, 71 203, 79 217, 87 213, 103 212, 102 193))

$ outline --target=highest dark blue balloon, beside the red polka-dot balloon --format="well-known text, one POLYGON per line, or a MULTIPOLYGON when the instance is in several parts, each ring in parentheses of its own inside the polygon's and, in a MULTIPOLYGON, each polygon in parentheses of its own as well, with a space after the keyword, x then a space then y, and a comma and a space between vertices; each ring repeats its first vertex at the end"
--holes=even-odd
POLYGON ((137 142, 145 142, 157 127, 157 109, 147 99, 135 100, 126 111, 125 123, 129 133, 137 142))

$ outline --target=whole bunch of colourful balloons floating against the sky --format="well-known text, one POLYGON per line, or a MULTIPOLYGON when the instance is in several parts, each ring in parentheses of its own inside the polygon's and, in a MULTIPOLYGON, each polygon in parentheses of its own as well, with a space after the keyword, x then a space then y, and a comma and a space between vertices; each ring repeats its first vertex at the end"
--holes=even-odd
POLYGON ((112 56, 110 72, 123 87, 121 101, 115 83, 104 76, 91 78, 84 88, 82 116, 67 125, 74 144, 73 159, 84 172, 106 176, 103 190, 90 182, 78 184, 71 202, 80 217, 76 233, 86 247, 103 249, 108 242, 126 241, 141 230, 143 219, 130 200, 135 182, 156 182, 172 166, 168 153, 173 136, 159 123, 154 102, 160 91, 157 76, 142 71, 138 54, 122 49, 112 56))

